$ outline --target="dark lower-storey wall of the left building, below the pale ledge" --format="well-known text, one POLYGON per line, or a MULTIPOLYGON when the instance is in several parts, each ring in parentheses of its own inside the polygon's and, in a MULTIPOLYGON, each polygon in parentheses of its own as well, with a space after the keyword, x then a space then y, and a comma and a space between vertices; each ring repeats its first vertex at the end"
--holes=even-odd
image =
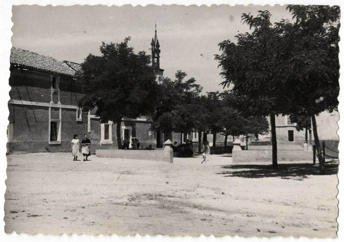
MULTIPOLYGON (((52 108, 52 118, 59 109, 52 108)), ((87 113, 76 121, 75 109, 61 110, 61 144, 49 145, 49 107, 9 104, 7 152, 69 152, 73 135, 79 139, 87 133, 87 113)))

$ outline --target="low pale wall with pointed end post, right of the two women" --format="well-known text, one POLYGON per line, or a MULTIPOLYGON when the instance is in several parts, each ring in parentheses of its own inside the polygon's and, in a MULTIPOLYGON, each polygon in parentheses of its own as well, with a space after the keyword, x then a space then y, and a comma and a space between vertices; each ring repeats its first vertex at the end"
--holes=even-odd
POLYGON ((173 151, 170 147, 153 150, 132 150, 132 149, 97 149, 97 157, 103 158, 123 158, 132 160, 149 160, 173 163, 173 151))

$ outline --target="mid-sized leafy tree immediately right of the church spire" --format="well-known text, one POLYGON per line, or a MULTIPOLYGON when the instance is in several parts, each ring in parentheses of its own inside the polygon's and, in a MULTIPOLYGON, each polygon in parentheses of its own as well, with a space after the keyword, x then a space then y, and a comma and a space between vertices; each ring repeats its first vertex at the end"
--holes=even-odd
POLYGON ((198 102, 201 86, 195 78, 185 80, 186 73, 178 71, 175 79, 159 77, 159 97, 152 116, 154 130, 162 130, 172 140, 172 132, 186 133, 199 129, 201 105, 198 102))

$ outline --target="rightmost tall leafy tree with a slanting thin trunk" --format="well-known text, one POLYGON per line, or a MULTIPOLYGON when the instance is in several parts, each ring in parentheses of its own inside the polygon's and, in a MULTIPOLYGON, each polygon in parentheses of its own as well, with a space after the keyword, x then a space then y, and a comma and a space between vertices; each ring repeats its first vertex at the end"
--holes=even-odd
POLYGON ((289 112, 311 117, 317 157, 324 171, 315 116, 338 106, 340 7, 288 5, 287 9, 294 23, 281 22, 277 31, 286 50, 286 83, 293 87, 289 112))

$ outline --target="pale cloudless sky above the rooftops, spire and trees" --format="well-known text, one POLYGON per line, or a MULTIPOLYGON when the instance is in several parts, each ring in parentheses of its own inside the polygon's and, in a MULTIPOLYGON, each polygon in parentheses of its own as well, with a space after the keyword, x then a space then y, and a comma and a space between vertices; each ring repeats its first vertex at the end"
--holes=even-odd
POLYGON ((82 63, 89 53, 99 55, 101 42, 119 43, 130 36, 135 51, 150 53, 155 22, 160 43, 160 68, 174 78, 182 70, 194 77, 205 92, 221 91, 218 44, 235 41, 235 35, 250 31, 242 13, 256 15, 269 10, 271 22, 291 19, 286 6, 254 5, 131 5, 38 6, 12 8, 12 46, 49 55, 59 61, 82 63))

